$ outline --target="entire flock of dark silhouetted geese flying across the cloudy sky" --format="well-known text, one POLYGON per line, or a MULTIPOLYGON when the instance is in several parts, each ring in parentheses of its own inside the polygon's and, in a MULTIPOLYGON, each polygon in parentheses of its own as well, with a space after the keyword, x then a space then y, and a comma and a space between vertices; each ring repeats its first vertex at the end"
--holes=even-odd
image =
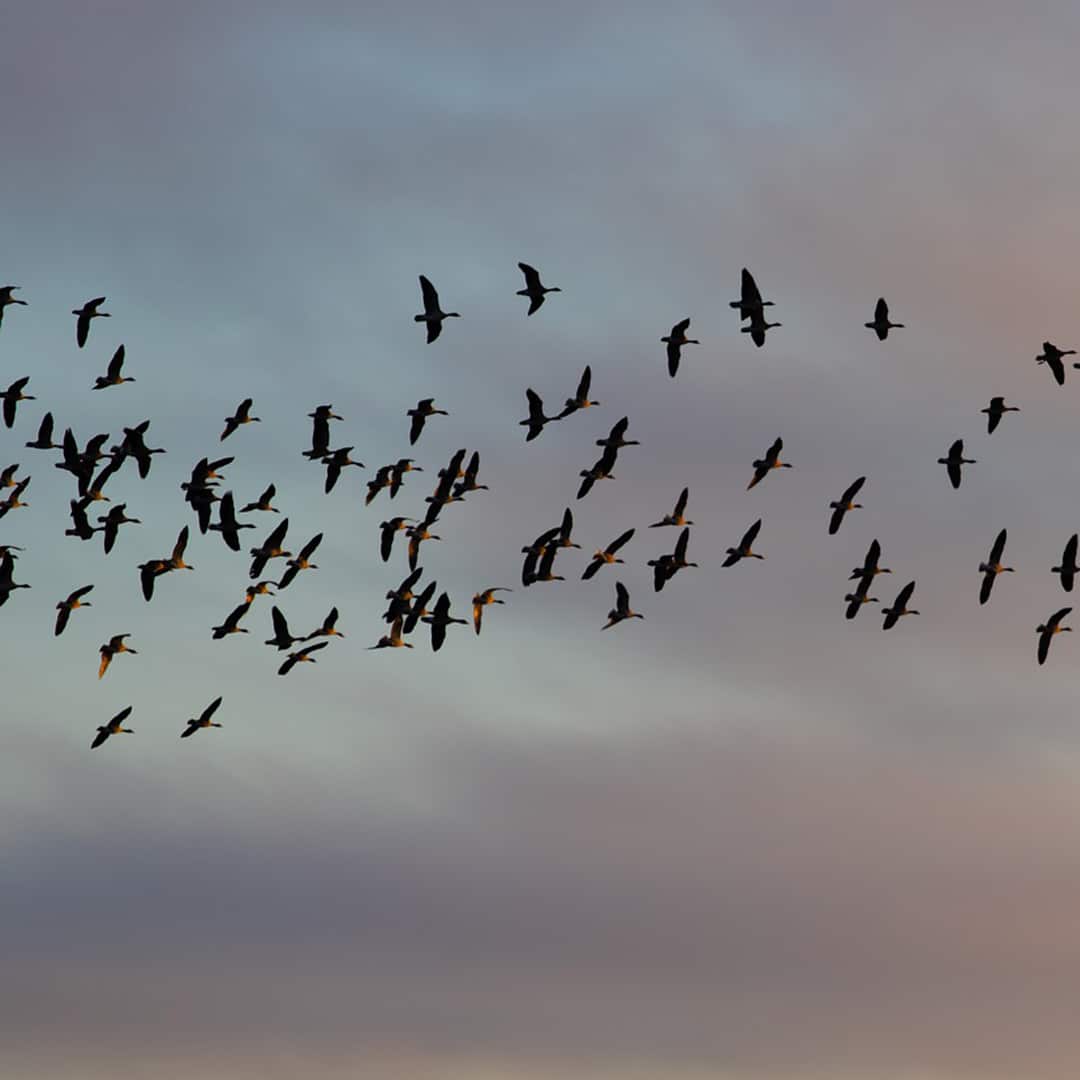
MULTIPOLYGON (((534 267, 525 262, 519 262, 518 267, 525 278, 525 287, 519 289, 517 295, 528 299, 527 314, 532 315, 540 310, 550 294, 558 293, 561 289, 557 286, 543 285, 539 272, 534 267)), ((422 274, 419 281, 423 311, 415 319, 416 322, 424 324, 427 340, 430 345, 438 339, 445 321, 460 318, 460 314, 456 311, 443 311, 438 293, 432 283, 422 274)), ((26 306, 25 300, 14 295, 16 292, 17 286, 14 285, 0 287, 0 325, 3 323, 6 308, 16 305, 26 306)), ((104 302, 105 297, 96 297, 72 311, 77 319, 76 341, 80 349, 89 340, 93 321, 110 318, 109 312, 100 310, 104 302)), ((742 327, 742 332, 748 334, 758 348, 765 345, 767 332, 781 325, 778 322, 769 322, 766 318, 766 308, 772 306, 773 301, 762 298, 753 275, 744 269, 740 297, 738 300, 732 300, 730 307, 739 312, 740 321, 746 324, 742 327)), ((882 298, 877 301, 873 320, 867 322, 865 326, 875 333, 878 340, 885 341, 891 330, 903 328, 903 323, 894 323, 890 320, 889 306, 882 298)), ((673 378, 678 373, 683 349, 700 343, 698 340, 687 337, 689 328, 690 320, 684 319, 675 323, 671 330, 660 339, 666 346, 667 372, 673 378)), ((1075 350, 1059 349, 1047 341, 1043 343, 1042 353, 1036 360, 1050 369, 1055 381, 1061 386, 1065 381, 1064 357, 1072 354, 1075 354, 1075 350)), ((135 381, 134 378, 123 374, 124 360, 124 346, 120 345, 113 352, 105 375, 96 377, 93 389, 104 390, 135 381)), ((1072 366, 1080 367, 1080 363, 1075 363, 1072 366)), ((15 424, 19 403, 35 401, 33 395, 25 392, 29 381, 28 376, 16 379, 6 390, 0 392, 3 423, 9 429, 15 424)), ((563 408, 551 416, 545 411, 540 395, 531 388, 526 389, 528 416, 519 421, 519 426, 526 429, 526 442, 537 438, 551 423, 565 420, 575 413, 599 405, 598 401, 590 397, 591 383, 592 372, 586 366, 573 396, 566 399, 563 408)), ((235 411, 225 419, 225 428, 220 435, 221 442, 229 438, 242 427, 260 422, 259 417, 252 415, 253 404, 252 399, 245 399, 235 411)), ((987 432, 993 433, 1001 422, 1002 417, 1007 413, 1013 411, 1020 410, 1015 406, 1007 405, 1003 397, 993 397, 989 405, 982 409, 982 413, 987 416, 987 432)), ((446 415, 448 414, 445 409, 435 407, 432 397, 417 402, 415 408, 407 410, 409 445, 416 445, 427 422, 432 417, 446 415)), ((334 411, 332 405, 320 405, 309 413, 308 417, 312 421, 311 446, 302 451, 302 456, 309 461, 324 467, 323 489, 329 494, 345 469, 365 467, 363 462, 356 461, 350 456, 353 450, 352 446, 332 448, 330 422, 342 419, 334 411)), ((592 465, 583 469, 580 473, 581 484, 577 495, 579 500, 585 498, 598 481, 613 478, 612 470, 622 448, 638 445, 636 440, 626 437, 629 424, 629 418, 622 417, 611 427, 606 437, 596 440, 596 445, 602 448, 602 453, 592 465)), ((104 551, 108 554, 113 549, 122 526, 140 524, 138 518, 127 516, 126 503, 118 503, 108 513, 98 515, 97 525, 92 525, 90 522, 90 509, 95 502, 110 501, 109 497, 104 494, 105 485, 129 459, 134 463, 141 480, 149 476, 153 456, 164 453, 162 447, 147 446, 145 437, 149 426, 150 421, 145 420, 135 427, 124 428, 123 438, 108 450, 105 449, 105 444, 109 441, 108 434, 94 435, 80 448, 71 428, 65 430, 59 443, 53 442, 53 415, 52 413, 44 414, 39 422, 36 437, 26 442, 25 445, 31 449, 59 450, 60 460, 55 463, 55 468, 70 473, 75 478, 77 497, 69 502, 71 527, 66 530, 66 536, 76 537, 81 541, 92 541, 96 534, 102 534, 104 551)), ((762 483, 774 471, 791 468, 788 462, 781 460, 782 453, 783 441, 777 438, 765 455, 753 462, 753 475, 747 484, 747 490, 762 483)), ((467 455, 467 449, 459 449, 437 471, 432 494, 424 500, 427 510, 421 518, 391 516, 379 526, 379 554, 384 563, 391 557, 397 534, 402 532, 407 537, 406 558, 409 573, 396 588, 391 589, 386 594, 389 603, 386 611, 382 612, 382 619, 389 629, 374 645, 369 646, 370 649, 413 648, 413 643, 407 638, 422 622, 430 629, 432 649, 437 651, 446 640, 450 626, 468 624, 467 619, 450 615, 451 602, 447 592, 443 591, 437 597, 435 596, 437 591, 435 581, 429 581, 422 589, 419 588, 419 581, 423 573, 423 568, 419 565, 421 544, 440 539, 436 534, 432 532, 432 527, 438 521, 443 509, 451 502, 463 500, 471 492, 487 490, 487 485, 481 484, 477 480, 480 473, 478 451, 473 451, 468 461, 465 460, 467 455)), ((949 483, 954 488, 960 486, 963 467, 975 463, 974 459, 966 458, 963 455, 963 441, 958 438, 951 444, 947 455, 937 459, 940 464, 945 465, 949 483)), ((194 513, 200 532, 204 535, 211 531, 219 532, 225 544, 231 551, 239 553, 242 550, 241 531, 254 529, 256 526, 252 522, 241 522, 237 515, 280 513, 280 511, 272 504, 276 494, 273 484, 269 485, 257 499, 240 508, 235 505, 232 491, 226 491, 224 495, 217 494, 224 480, 222 470, 233 460, 232 457, 213 460, 208 456, 202 458, 194 464, 190 476, 180 485, 180 488, 184 491, 185 501, 194 513), (215 504, 217 505, 216 521, 214 519, 215 504)), ((30 477, 17 478, 18 470, 18 464, 8 465, 0 470, 0 492, 9 492, 0 499, 0 519, 12 511, 28 505, 22 497, 30 484, 30 477)), ((410 472, 422 471, 423 469, 413 458, 401 458, 379 467, 373 478, 367 482, 365 504, 370 504, 383 490, 388 492, 389 499, 394 499, 405 476, 410 472)), ((828 518, 828 534, 831 536, 838 531, 848 513, 861 508, 862 504, 854 500, 865 481, 865 476, 858 477, 847 487, 839 499, 828 503, 832 511, 828 518)), ((671 513, 665 513, 659 521, 648 526, 649 528, 673 527, 679 529, 673 550, 648 562, 648 566, 652 568, 653 588, 658 593, 680 570, 698 565, 687 558, 690 527, 693 525, 693 522, 686 516, 688 500, 689 489, 684 488, 671 513)), ((274 596, 287 589, 302 571, 318 569, 316 564, 312 563, 311 559, 323 540, 323 535, 320 532, 311 537, 294 554, 284 546, 288 526, 288 518, 283 518, 269 531, 261 543, 249 549, 248 578, 252 584, 245 588, 243 600, 218 625, 212 627, 212 636, 215 639, 221 639, 232 634, 247 633, 247 627, 242 626, 241 622, 252 610, 256 597, 274 596), (276 581, 264 578, 264 573, 271 563, 283 565, 283 570, 276 581)), ((733 566, 743 559, 765 558, 762 554, 753 550, 760 528, 761 519, 758 518, 746 529, 738 544, 727 549, 726 558, 723 562, 724 567, 733 566)), ((555 572, 555 561, 561 552, 571 548, 580 548, 580 544, 572 540, 572 532, 573 514, 570 508, 567 508, 558 524, 545 529, 531 543, 522 549, 525 558, 521 581, 524 588, 539 582, 565 580, 564 576, 555 572)), ((595 577, 605 566, 623 564, 624 561, 619 557, 619 552, 633 538, 634 534, 635 529, 626 529, 605 548, 597 550, 585 566, 581 575, 582 579, 589 580, 595 577)), ((191 564, 185 562, 189 538, 190 528, 185 525, 179 530, 176 542, 168 554, 139 564, 139 586, 148 603, 153 598, 154 585, 160 578, 175 570, 193 569, 191 564)), ((989 599, 998 575, 1012 571, 1012 567, 1003 566, 1001 562, 1005 541, 1007 532, 1002 529, 996 537, 986 561, 978 565, 978 571, 983 579, 978 596, 981 604, 985 604, 989 599)), ((1080 566, 1076 562, 1078 536, 1074 534, 1065 546, 1061 565, 1053 567, 1053 572, 1059 577, 1066 592, 1071 592, 1076 575, 1080 571, 1080 566)), ((30 588, 25 582, 14 580, 15 564, 19 551, 22 549, 13 544, 0 544, 0 607, 16 590, 30 588)), ((852 569, 849 581, 854 582, 854 584, 845 595, 847 604, 845 613, 848 619, 855 618, 865 605, 877 603, 877 598, 869 595, 870 588, 879 575, 892 572, 890 568, 880 565, 880 556, 881 546, 875 539, 869 545, 862 565, 852 569)), ((54 632, 57 636, 67 629, 73 611, 91 606, 91 602, 85 597, 93 589, 92 584, 82 585, 56 604, 54 632)), ((507 586, 495 585, 478 590, 473 595, 472 625, 476 634, 481 633, 485 608, 496 604, 504 604, 505 600, 497 594, 511 591, 507 586)), ((892 603, 881 609, 885 617, 882 622, 885 630, 891 630, 904 616, 919 613, 916 609, 908 607, 914 592, 915 582, 909 581, 899 591, 892 603)), ((621 581, 615 582, 615 606, 608 611, 607 622, 604 623, 603 630, 609 630, 632 619, 645 618, 642 612, 632 609, 630 593, 621 581)), ((1071 610, 1070 607, 1062 608, 1037 627, 1039 634, 1037 659, 1040 664, 1045 662, 1054 636, 1071 629, 1062 624, 1064 618, 1071 610)), ((337 630, 338 609, 336 607, 326 615, 321 625, 300 635, 295 635, 289 630, 287 619, 279 606, 272 606, 270 615, 273 633, 265 644, 286 653, 278 669, 279 675, 287 675, 301 663, 315 663, 315 653, 328 646, 329 638, 345 636, 337 630)), ((127 644, 127 638, 131 636, 127 633, 114 634, 100 646, 98 650, 100 656, 98 678, 104 678, 118 656, 122 653, 136 654, 137 650, 127 644)), ((221 727, 220 723, 213 719, 221 705, 221 700, 220 697, 216 698, 199 716, 189 719, 180 732, 180 738, 189 738, 203 728, 221 727)), ((131 713, 132 706, 129 705, 108 723, 100 725, 91 746, 96 748, 114 734, 131 732, 133 729, 123 726, 131 713)))

